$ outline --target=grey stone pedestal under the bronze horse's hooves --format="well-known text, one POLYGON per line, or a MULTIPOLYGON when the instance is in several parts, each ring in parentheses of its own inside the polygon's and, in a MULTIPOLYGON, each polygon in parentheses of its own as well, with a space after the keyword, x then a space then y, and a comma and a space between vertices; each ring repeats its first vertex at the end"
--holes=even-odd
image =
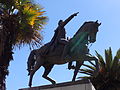
POLYGON ((19 90, 95 90, 88 80, 78 80, 76 82, 64 82, 56 85, 44 85, 19 90))

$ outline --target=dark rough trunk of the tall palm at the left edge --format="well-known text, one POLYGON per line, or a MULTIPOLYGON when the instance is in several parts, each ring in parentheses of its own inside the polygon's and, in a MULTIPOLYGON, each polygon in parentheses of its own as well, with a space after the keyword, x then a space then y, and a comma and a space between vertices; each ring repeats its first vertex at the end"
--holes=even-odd
MULTIPOLYGON (((9 20, 9 19, 7 19, 9 20)), ((11 60, 13 60, 12 42, 13 32, 10 31, 10 23, 6 20, 2 20, 3 28, 0 29, 0 90, 6 90, 6 76, 8 75, 8 66, 11 60)))

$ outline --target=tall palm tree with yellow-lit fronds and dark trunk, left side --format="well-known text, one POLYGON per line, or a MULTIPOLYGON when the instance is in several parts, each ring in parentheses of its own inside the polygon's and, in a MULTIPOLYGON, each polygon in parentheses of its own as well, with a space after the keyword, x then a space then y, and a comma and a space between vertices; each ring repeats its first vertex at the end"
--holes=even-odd
POLYGON ((0 90, 5 90, 13 49, 41 44, 47 20, 42 9, 30 0, 0 0, 0 90))

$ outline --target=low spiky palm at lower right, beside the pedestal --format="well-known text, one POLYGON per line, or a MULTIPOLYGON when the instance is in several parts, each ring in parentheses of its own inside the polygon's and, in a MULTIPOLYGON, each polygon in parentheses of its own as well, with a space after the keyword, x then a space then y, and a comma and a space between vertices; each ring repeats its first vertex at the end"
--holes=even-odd
POLYGON ((105 58, 98 52, 96 56, 99 61, 99 70, 96 72, 95 66, 84 65, 87 69, 81 69, 80 72, 88 76, 96 90, 119 90, 120 89, 120 49, 113 58, 112 50, 105 50, 105 58), (118 89, 119 88, 119 89, 118 89))

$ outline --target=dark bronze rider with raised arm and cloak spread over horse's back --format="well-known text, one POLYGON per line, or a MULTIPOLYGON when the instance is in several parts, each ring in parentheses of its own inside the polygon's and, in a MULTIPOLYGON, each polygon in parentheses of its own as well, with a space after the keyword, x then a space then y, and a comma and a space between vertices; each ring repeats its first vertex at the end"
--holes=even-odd
POLYGON ((56 47, 64 47, 67 43, 68 43, 68 40, 66 39, 66 31, 65 31, 65 28, 64 26, 74 17, 74 16, 77 16, 78 12, 77 13, 74 13, 72 14, 70 17, 68 17, 65 21, 63 20, 59 20, 58 22, 58 27, 56 28, 55 30, 55 34, 52 38, 52 40, 47 43, 44 47, 44 50, 43 52, 41 53, 42 56, 45 56, 45 55, 52 55, 52 54, 56 54, 54 53, 56 47), (50 53, 49 53, 50 52, 50 53), (53 52, 53 53, 52 53, 53 52))

